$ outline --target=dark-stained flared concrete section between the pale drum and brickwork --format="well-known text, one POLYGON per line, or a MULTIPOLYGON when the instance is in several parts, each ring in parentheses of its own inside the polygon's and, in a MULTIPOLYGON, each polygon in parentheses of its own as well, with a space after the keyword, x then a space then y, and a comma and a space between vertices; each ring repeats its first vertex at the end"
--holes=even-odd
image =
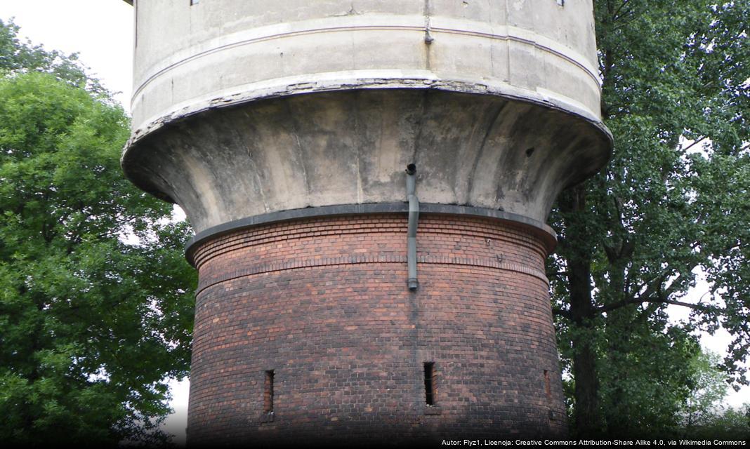
POLYGON ((562 188, 607 158, 607 133, 565 112, 476 94, 378 89, 213 109, 130 148, 124 168, 196 232, 271 211, 398 202, 416 163, 422 202, 544 222, 562 188))

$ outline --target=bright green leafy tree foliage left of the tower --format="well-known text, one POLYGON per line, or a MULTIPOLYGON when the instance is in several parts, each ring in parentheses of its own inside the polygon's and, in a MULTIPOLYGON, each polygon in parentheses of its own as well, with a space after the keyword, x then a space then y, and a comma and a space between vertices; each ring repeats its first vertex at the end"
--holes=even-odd
POLYGON ((0 23, 0 440, 166 442, 164 379, 190 358, 187 227, 121 174, 122 109, 16 31, 0 23))

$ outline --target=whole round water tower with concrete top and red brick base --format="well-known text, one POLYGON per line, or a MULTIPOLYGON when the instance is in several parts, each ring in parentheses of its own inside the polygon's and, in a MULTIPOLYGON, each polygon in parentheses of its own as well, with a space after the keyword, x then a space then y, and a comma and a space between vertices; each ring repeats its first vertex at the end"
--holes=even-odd
POLYGON ((565 433, 544 221, 611 148, 591 0, 134 8, 122 166, 196 231, 188 444, 565 433))

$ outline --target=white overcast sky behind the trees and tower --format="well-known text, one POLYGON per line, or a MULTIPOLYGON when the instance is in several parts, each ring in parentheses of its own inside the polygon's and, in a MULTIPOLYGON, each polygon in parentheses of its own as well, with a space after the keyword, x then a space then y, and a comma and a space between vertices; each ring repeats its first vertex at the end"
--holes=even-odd
MULTIPOLYGON (((101 79, 110 91, 118 92, 118 100, 130 112, 130 93, 133 83, 133 7, 123 0, 0 0, 0 19, 13 21, 21 27, 22 37, 46 49, 66 53, 78 52, 90 73, 101 79)), ((697 300, 708 290, 699 283, 691 292, 697 300)), ((670 306, 673 319, 687 319, 688 310, 670 306)), ((728 342, 725 332, 701 336, 707 349, 724 354, 728 342)), ((187 415, 187 382, 173 383, 177 410, 169 420, 169 430, 184 439, 187 415)), ((727 401, 740 406, 750 400, 750 388, 730 395, 727 401)))

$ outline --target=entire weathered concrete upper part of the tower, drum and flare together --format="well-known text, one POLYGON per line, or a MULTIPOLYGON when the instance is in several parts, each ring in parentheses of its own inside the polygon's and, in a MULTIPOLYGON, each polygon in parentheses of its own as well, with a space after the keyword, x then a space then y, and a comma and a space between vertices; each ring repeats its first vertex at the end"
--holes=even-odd
POLYGON ((610 136, 589 0, 136 2, 123 167, 196 232, 255 214, 425 202, 544 221, 610 136), (169 20, 164 20, 164 17, 169 20))

